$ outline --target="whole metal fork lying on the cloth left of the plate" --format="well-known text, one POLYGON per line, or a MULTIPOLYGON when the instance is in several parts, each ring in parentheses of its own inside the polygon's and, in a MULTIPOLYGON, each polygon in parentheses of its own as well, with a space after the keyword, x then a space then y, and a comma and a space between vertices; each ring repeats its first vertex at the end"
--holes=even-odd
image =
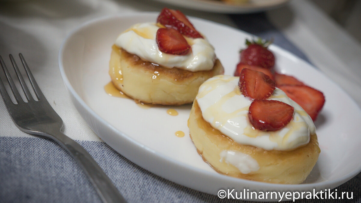
POLYGON ((90 154, 77 142, 61 133, 63 121, 45 99, 22 54, 20 53, 19 57, 37 100, 31 95, 13 56, 9 56, 27 101, 23 101, 1 56, 1 67, 4 70, 6 79, 17 104, 13 103, 1 78, 0 93, 1 96, 3 96, 9 114, 17 127, 29 134, 52 138, 64 147, 83 168, 103 202, 126 202, 117 188, 113 185, 112 181, 106 176, 90 154))

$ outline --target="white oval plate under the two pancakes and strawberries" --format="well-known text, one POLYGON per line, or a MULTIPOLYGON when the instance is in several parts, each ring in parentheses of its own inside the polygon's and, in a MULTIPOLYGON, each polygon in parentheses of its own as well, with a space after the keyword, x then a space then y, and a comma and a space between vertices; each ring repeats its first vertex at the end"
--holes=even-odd
MULTIPOLYGON (((196 151, 187 127, 191 105, 140 108, 133 100, 106 94, 108 63, 116 37, 139 22, 155 21, 158 13, 131 14, 93 20, 75 29, 63 42, 59 66, 71 99, 88 125, 110 147, 135 164, 173 182, 210 194, 221 188, 250 191, 310 191, 334 188, 361 171, 361 111, 356 103, 310 64, 277 46, 279 72, 295 75, 321 90, 326 103, 316 121, 321 154, 310 176, 299 185, 270 184, 215 172, 196 151), (174 108, 178 116, 170 116, 174 108), (179 138, 181 130, 186 136, 179 138)), ((191 18, 209 39, 232 75, 239 49, 251 35, 210 21, 191 18), (227 33, 227 37, 225 37, 227 33)), ((121 169, 119 169, 121 170, 121 169)))

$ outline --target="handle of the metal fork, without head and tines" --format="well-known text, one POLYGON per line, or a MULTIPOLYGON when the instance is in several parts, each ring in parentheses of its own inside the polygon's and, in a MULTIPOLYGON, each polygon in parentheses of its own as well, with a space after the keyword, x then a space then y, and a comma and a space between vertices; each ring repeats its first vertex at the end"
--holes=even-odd
POLYGON ((59 132, 52 133, 54 139, 64 147, 83 168, 90 182, 95 186, 102 202, 126 202, 112 181, 91 157, 91 155, 77 142, 70 139, 65 134, 59 132))

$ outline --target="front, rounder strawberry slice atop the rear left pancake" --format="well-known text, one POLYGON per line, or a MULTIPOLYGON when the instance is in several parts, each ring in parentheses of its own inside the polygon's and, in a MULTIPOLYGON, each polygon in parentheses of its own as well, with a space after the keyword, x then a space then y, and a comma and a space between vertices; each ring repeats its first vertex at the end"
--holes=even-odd
POLYGON ((156 41, 161 52, 174 55, 187 55, 191 46, 178 30, 160 28, 157 31, 156 41))

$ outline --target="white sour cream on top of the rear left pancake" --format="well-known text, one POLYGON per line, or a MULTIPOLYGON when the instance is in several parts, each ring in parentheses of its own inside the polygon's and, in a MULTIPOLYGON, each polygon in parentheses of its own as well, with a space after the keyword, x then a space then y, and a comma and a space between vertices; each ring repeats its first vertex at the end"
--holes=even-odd
POLYGON ((156 42, 158 29, 159 27, 155 23, 138 23, 120 34, 115 44, 129 53, 139 56, 142 60, 166 68, 177 67, 192 72, 213 68, 216 54, 206 39, 185 37, 191 46, 190 53, 187 55, 167 54, 158 49, 156 42))

